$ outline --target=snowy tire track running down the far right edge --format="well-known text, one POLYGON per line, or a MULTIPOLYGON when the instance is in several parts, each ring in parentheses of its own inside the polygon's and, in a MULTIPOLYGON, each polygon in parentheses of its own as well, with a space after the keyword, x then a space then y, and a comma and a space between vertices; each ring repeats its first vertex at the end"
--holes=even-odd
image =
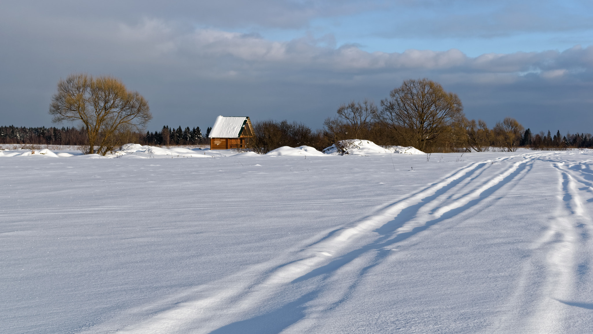
MULTIPOLYGON (((575 257, 579 252, 578 226, 591 226, 579 194, 577 181, 565 162, 553 162, 558 173, 558 205, 554 218, 541 237, 531 245, 532 256, 524 264, 517 292, 509 301, 509 311, 491 333, 563 333, 569 328, 566 314, 575 295, 575 257), (537 279, 543 276, 543 282, 537 279), (535 297, 528 292, 531 288, 535 297)), ((590 182, 587 182, 590 183, 590 182)), ((589 186, 588 186, 589 187, 589 186)), ((591 228, 591 227, 589 227, 591 228)))

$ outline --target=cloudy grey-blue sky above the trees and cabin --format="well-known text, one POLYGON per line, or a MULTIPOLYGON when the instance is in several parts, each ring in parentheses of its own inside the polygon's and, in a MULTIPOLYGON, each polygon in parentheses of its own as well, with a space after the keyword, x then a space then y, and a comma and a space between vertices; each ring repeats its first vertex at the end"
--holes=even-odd
POLYGON ((146 97, 151 131, 216 115, 320 128, 428 77, 491 127, 593 133, 592 45, 590 0, 3 0, 0 125, 52 125, 56 83, 84 72, 146 97))

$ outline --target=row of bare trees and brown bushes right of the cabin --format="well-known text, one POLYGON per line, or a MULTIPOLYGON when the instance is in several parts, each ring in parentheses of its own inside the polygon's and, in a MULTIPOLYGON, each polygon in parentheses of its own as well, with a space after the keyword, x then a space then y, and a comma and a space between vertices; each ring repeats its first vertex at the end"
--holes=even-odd
POLYGON ((254 123, 256 152, 266 153, 280 146, 313 146, 323 149, 339 140, 366 139, 382 146, 413 146, 423 152, 483 152, 490 147, 515 151, 559 150, 593 147, 591 134, 551 136, 531 133, 511 117, 489 128, 482 120, 467 119, 461 100, 426 78, 406 80, 375 105, 370 100, 351 101, 339 106, 321 130, 288 121, 254 123))

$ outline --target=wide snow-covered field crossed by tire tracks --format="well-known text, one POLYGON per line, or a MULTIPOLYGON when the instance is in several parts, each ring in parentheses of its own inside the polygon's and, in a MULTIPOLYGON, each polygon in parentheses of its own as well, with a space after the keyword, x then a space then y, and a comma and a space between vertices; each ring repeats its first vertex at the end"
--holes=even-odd
POLYGON ((593 152, 295 150, 5 151, 0 332, 593 333, 593 152))

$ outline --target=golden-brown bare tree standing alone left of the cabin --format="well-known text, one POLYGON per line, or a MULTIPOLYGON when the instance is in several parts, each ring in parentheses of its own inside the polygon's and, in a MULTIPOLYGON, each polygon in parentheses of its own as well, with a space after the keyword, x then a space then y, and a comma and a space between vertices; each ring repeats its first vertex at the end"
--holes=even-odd
POLYGON ((143 130, 152 119, 141 94, 128 91, 118 78, 88 74, 71 74, 58 82, 49 114, 53 122, 80 122, 87 134, 87 153, 101 155, 121 144, 123 134, 143 130))

